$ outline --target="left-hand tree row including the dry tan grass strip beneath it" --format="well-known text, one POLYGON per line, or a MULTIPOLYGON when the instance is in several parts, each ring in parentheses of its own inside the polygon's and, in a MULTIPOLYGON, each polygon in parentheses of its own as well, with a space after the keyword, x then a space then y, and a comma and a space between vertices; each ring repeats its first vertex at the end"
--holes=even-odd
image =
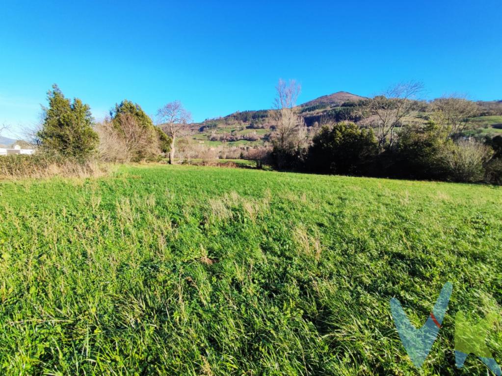
POLYGON ((0 176, 43 177, 55 174, 89 176, 99 162, 140 162, 169 156, 174 161, 176 141, 191 115, 179 101, 161 107, 157 125, 141 106, 129 100, 115 104, 104 120, 96 122, 80 99, 66 98, 57 85, 47 93, 42 124, 33 136, 34 155, 0 159, 0 176))

